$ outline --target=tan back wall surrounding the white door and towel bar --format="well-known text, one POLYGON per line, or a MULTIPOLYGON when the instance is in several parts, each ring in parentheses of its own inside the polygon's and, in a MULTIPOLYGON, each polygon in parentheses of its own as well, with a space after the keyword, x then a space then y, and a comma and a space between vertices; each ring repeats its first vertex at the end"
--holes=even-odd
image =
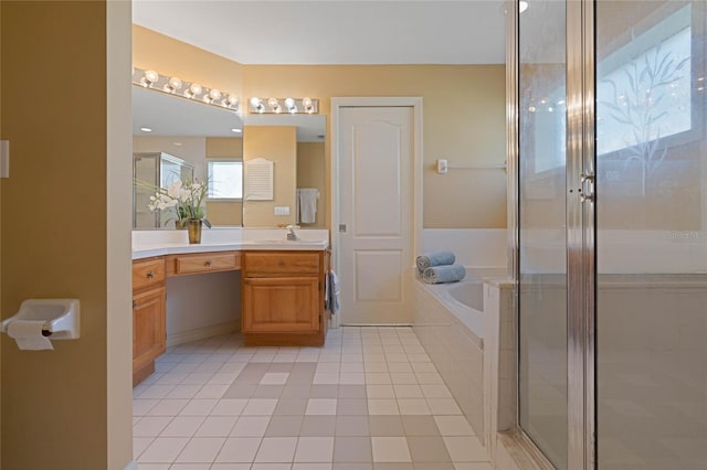
MULTIPOLYGON (((335 96, 421 96, 424 227, 506 226, 503 171, 450 170, 441 175, 434 169, 441 158, 458 164, 504 162, 504 65, 247 65, 243 76, 244 97, 317 97, 319 113, 329 116, 335 96)), ((327 174, 329 153, 327 146, 327 174)))

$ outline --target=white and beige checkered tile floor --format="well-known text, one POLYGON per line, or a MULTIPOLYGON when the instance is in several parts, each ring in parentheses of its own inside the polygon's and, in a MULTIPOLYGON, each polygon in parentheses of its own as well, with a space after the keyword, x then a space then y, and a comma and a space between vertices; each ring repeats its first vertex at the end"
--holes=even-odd
POLYGON ((139 470, 492 470, 410 328, 329 330, 324 348, 170 349, 135 387, 139 470))

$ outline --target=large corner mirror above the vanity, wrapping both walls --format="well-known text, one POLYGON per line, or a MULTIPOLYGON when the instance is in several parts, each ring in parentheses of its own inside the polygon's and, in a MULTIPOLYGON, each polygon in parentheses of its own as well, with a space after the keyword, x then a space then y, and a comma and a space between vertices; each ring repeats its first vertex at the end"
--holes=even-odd
MULTIPOLYGON (((169 156, 192 167, 194 178, 209 180, 213 190, 207 217, 214 226, 326 226, 325 135, 325 116, 243 118, 232 110, 133 87, 134 161, 146 153, 169 156), (249 184, 256 183, 247 174, 249 168, 251 174, 257 173, 252 164, 257 159, 273 162, 270 197, 249 184)), ((135 177, 160 181, 156 175, 135 177)), ((137 186, 134 193, 139 193, 137 186)), ((175 228, 169 214, 152 215, 143 207, 148 199, 148 194, 134 196, 134 228, 175 228)))

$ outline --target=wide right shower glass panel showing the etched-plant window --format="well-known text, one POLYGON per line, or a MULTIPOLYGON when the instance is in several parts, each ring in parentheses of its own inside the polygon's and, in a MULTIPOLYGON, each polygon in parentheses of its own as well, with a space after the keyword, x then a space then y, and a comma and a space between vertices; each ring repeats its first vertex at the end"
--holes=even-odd
POLYGON ((705 9, 597 3, 602 470, 707 464, 705 9))

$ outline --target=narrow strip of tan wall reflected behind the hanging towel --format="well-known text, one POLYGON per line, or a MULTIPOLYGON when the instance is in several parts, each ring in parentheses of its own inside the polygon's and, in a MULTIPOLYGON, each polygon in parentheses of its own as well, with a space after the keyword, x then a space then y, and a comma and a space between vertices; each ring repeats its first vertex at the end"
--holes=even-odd
POLYGON ((305 227, 325 227, 327 213, 326 146, 324 142, 297 142, 297 188, 319 190, 317 214, 313 224, 299 224, 305 227))

